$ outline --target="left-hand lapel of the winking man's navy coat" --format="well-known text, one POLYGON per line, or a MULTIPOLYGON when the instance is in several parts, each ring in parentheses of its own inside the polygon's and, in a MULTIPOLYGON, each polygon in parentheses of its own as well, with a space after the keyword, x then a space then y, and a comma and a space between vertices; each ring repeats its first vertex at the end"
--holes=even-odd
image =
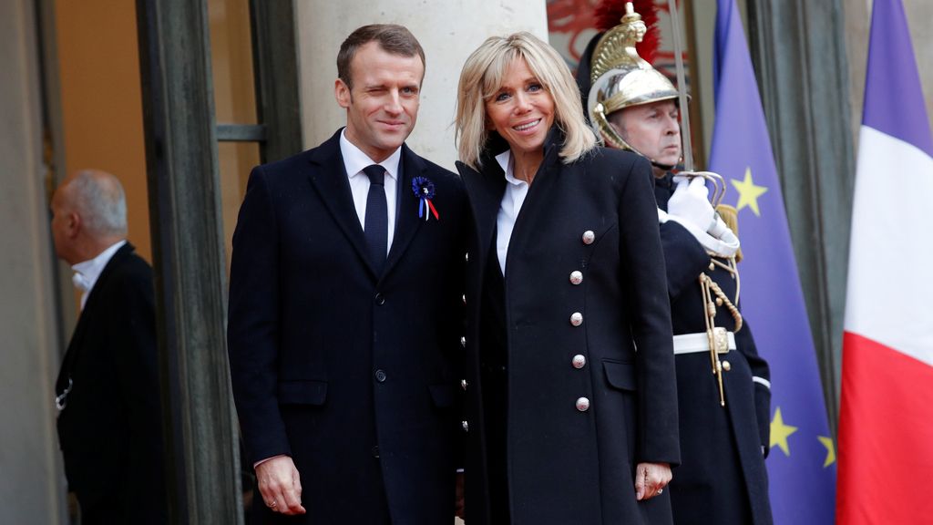
POLYGON ((363 227, 356 215, 353 193, 350 192, 350 181, 347 179, 346 168, 343 166, 340 136, 341 132, 338 131, 327 142, 313 150, 310 160, 312 170, 308 178, 320 195, 324 206, 327 207, 327 211, 333 216, 334 222, 350 240, 350 244, 353 245, 360 259, 369 268, 369 273, 379 277, 376 275, 372 261, 369 260, 369 245, 366 243, 366 235, 363 234, 363 227))

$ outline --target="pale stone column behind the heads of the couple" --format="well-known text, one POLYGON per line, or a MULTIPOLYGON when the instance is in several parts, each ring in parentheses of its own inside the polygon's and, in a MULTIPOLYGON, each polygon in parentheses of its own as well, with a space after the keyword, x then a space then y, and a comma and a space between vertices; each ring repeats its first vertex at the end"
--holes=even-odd
POLYGON ((334 99, 341 42, 361 25, 400 23, 421 42, 427 62, 421 110, 408 145, 451 170, 457 81, 466 57, 491 35, 525 30, 548 38, 544 0, 297 0, 296 7, 305 148, 346 123, 334 99))

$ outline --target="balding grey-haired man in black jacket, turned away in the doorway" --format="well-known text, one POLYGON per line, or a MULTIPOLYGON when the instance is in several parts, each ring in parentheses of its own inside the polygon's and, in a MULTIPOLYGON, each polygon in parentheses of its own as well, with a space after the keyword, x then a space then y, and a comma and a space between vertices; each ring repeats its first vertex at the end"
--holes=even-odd
POLYGON ((55 387, 83 525, 166 523, 152 269, 126 241, 117 177, 85 170, 52 197, 52 236, 81 314, 55 387))

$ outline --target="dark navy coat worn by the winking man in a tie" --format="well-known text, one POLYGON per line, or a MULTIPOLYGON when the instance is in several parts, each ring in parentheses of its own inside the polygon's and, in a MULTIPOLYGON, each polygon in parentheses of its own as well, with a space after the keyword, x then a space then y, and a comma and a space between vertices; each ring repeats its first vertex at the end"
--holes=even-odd
POLYGON ((403 146, 395 237, 376 275, 339 138, 255 168, 240 210, 228 330, 248 461, 292 457, 308 510, 295 522, 445 523, 466 195, 403 146), (412 177, 434 183, 439 220, 418 218, 412 177))

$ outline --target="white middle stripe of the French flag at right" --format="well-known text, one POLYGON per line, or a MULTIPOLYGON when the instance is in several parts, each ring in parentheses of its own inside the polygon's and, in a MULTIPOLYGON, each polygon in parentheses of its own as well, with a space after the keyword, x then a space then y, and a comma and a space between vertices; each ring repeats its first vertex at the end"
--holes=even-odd
POLYGON ((845 330, 933 365, 933 158, 862 126, 845 330))

